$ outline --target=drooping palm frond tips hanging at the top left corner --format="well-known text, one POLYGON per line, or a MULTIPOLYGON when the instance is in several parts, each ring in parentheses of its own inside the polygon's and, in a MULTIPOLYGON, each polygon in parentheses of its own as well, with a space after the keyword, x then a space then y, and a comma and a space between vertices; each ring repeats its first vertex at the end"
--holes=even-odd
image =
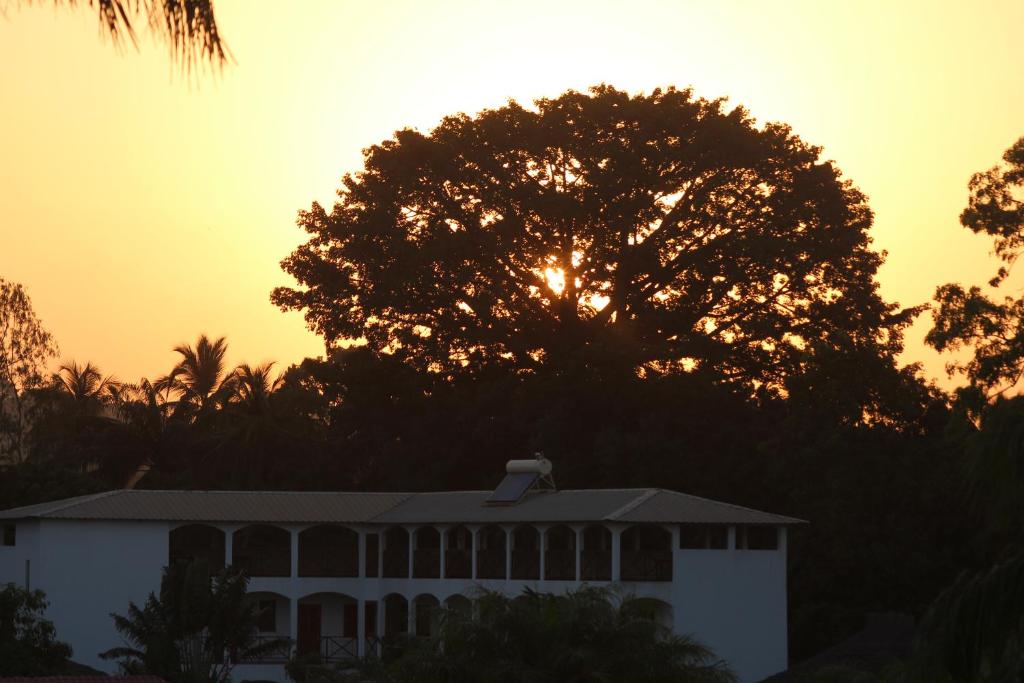
MULTIPOLYGON (((51 0, 24 0, 42 4, 51 0)), ((220 35, 214 15, 214 0, 52 0, 54 5, 94 7, 99 25, 116 44, 126 39, 137 46, 136 27, 150 31, 167 42, 171 56, 185 69, 197 62, 215 66, 229 58, 227 45, 220 35)))

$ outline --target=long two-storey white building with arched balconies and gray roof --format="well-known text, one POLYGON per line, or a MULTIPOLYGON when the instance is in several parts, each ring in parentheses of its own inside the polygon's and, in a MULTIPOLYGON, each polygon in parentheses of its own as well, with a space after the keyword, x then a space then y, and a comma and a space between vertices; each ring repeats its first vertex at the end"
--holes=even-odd
MULTIPOLYGON (((477 587, 611 583, 659 600, 667 625, 743 683, 786 668, 786 529, 800 520, 659 488, 490 497, 113 490, 0 512, 0 583, 45 591, 75 659, 106 671, 98 653, 121 644, 111 612, 184 557, 244 568, 267 607, 262 635, 328 660, 426 635, 431 610, 468 608, 477 587)), ((234 680, 283 681, 287 654, 234 680)))

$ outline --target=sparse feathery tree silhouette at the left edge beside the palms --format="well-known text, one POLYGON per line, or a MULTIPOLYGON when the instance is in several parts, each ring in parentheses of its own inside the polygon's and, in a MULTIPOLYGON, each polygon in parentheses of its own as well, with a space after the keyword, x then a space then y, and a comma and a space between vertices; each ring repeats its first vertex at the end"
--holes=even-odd
POLYGON ((34 405, 27 393, 43 385, 56 342, 17 283, 0 278, 0 462, 20 462, 34 405))

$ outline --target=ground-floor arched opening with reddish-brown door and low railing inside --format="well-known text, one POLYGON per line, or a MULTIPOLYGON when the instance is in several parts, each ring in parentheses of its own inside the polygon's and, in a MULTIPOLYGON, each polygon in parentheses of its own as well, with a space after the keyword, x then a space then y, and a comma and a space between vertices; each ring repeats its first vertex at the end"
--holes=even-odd
POLYGON ((358 656, 359 607, 342 593, 313 593, 299 600, 296 653, 324 661, 358 656))

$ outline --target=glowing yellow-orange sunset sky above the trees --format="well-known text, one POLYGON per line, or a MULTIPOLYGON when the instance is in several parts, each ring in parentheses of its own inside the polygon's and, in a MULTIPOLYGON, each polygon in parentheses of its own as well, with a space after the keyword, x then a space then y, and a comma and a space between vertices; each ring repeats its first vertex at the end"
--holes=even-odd
MULTIPOLYGON (((293 284, 280 261, 304 242, 299 210, 333 204, 399 128, 602 82, 692 86, 821 145, 869 198, 887 300, 997 267, 957 217, 971 174, 1024 135, 1019 0, 215 9, 234 61, 188 76, 144 32, 113 45, 87 6, 0 0, 0 278, 26 287, 61 360, 154 377, 202 333, 227 337, 231 364, 323 353, 268 298, 293 284)), ((930 323, 902 360, 949 386, 930 323)))

